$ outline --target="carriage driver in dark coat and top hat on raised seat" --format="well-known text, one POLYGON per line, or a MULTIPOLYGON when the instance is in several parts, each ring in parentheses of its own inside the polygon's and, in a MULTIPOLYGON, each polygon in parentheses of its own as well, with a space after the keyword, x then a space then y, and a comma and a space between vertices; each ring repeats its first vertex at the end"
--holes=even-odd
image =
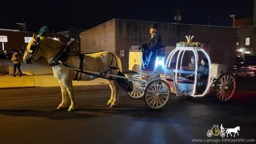
POLYGON ((140 46, 139 49, 143 50, 143 61, 145 68, 154 69, 155 57, 157 50, 162 47, 162 38, 158 32, 157 24, 151 24, 149 27, 150 37, 147 43, 140 46))

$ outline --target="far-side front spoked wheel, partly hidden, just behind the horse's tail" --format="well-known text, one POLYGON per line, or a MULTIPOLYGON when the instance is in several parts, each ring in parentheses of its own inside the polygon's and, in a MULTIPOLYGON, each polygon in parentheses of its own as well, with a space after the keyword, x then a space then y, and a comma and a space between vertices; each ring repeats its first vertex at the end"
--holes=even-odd
MULTIPOLYGON (((133 75, 132 77, 143 81, 141 75, 133 75)), ((133 84, 133 90, 127 92, 127 95, 129 95, 129 97, 133 99, 142 98, 144 96, 144 91, 146 89, 147 84, 139 81, 132 81, 132 84, 133 84)))

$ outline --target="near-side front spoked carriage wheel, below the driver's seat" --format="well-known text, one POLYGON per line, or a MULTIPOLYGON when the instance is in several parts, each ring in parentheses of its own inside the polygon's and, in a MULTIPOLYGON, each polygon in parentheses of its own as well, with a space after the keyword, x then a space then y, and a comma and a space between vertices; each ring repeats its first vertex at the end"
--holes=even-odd
POLYGON ((163 108, 171 97, 170 86, 163 80, 151 81, 147 85, 144 95, 148 107, 153 109, 163 108))

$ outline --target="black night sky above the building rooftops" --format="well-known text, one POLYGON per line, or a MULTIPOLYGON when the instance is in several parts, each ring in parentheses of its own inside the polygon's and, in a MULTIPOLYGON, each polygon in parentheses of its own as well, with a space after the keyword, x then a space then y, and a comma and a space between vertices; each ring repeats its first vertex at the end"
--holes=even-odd
POLYGON ((89 29, 113 18, 175 22, 175 10, 183 10, 181 23, 231 26, 231 14, 253 16, 253 0, 246 1, 1 1, 0 28, 27 22, 28 31, 48 25, 54 32, 68 28, 89 29))

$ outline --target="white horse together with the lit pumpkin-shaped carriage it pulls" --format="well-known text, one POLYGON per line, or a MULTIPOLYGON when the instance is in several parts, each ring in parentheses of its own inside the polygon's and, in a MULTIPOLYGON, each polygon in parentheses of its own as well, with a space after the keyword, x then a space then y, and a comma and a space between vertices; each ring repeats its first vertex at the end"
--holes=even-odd
MULTIPOLYGON (((145 97, 145 103, 153 109, 160 109, 169 102, 171 94, 177 97, 192 96, 203 97, 214 87, 216 97, 222 101, 229 101, 235 92, 235 77, 227 73, 227 68, 222 64, 211 64, 209 55, 198 42, 192 42, 192 37, 187 42, 181 42, 167 53, 157 51, 154 69, 144 68, 141 51, 129 52, 129 69, 136 75, 128 76, 122 73, 122 64, 117 55, 109 51, 100 51, 92 54, 82 54, 79 42, 70 40, 68 43, 42 37, 47 27, 42 27, 37 36, 32 37, 24 53, 25 63, 44 57, 53 69, 54 77, 59 80, 62 89, 62 102, 57 110, 67 108, 67 95, 71 104, 68 111, 76 109, 76 101, 72 89, 72 80, 93 80, 96 77, 106 78, 111 89, 111 97, 107 102, 110 107, 118 104, 119 85, 128 91, 127 94, 134 98, 145 97), (158 53, 159 52, 159 53, 158 53), (195 58, 195 69, 186 69, 185 61, 189 56, 195 58), (208 69, 206 76, 199 76, 198 59, 206 58, 208 69), (74 72, 76 71, 76 75, 74 72), (79 74, 80 73, 80 74, 79 74), (82 75, 82 73, 87 75, 82 75), (188 78, 187 76, 190 76, 188 78), (203 85, 198 85, 203 83, 203 85)), ((153 60, 154 61, 154 60, 153 60)))

